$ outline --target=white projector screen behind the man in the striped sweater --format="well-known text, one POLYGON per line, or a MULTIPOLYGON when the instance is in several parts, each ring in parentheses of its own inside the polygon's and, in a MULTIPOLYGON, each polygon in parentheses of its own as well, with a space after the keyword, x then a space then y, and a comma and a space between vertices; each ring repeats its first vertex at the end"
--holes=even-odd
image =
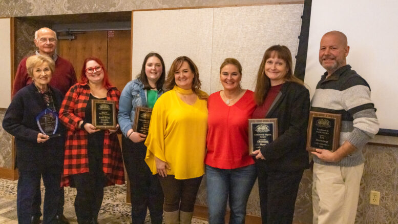
POLYGON ((366 79, 380 128, 398 130, 398 1, 312 1, 304 82, 311 97, 325 72, 319 64, 321 37, 331 30, 347 35, 347 64, 366 79))

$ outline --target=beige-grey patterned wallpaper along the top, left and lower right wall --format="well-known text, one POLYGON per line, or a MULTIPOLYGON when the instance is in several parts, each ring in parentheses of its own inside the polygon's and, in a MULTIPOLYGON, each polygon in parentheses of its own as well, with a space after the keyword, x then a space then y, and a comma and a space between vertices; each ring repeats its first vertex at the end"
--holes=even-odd
MULTIPOLYGON (((0 1, 0 17, 5 16, 33 16, 54 15, 73 13, 93 13, 110 11, 130 11, 136 9, 175 8, 175 7, 201 7, 201 6, 223 6, 223 5, 252 5, 275 2, 294 1, 260 1, 260 0, 235 0, 235 1, 213 1, 213 0, 15 0, 0 1), (46 3, 47 5, 38 5, 46 3)), ((302 3, 303 1, 295 1, 302 3)), ((29 51, 34 49, 31 42, 32 31, 41 26, 29 24, 25 21, 16 22, 16 45, 19 47, 15 52, 15 59, 20 60, 29 51)), ((312 87, 315 88, 315 87, 312 87)), ((0 113, 0 121, 3 120, 4 112, 0 113)), ((9 151, 11 138, 3 135, 0 129, 0 167, 9 166, 9 151), (6 150, 7 149, 7 150, 6 150), (3 161, 2 161, 3 160, 3 161)), ((364 149, 366 157, 364 175, 361 181, 361 193, 357 212, 356 223, 398 223, 398 147, 367 145, 364 149), (380 206, 369 205, 369 191, 381 192, 380 206)), ((300 223, 311 223, 311 171, 306 170, 300 184, 300 190, 296 201, 295 221, 300 223)), ((202 183, 203 184, 203 183, 202 183)), ((205 205, 205 190, 201 187, 198 194, 198 203, 205 205)), ((257 186, 250 195, 247 212, 259 215, 258 189, 257 186)))

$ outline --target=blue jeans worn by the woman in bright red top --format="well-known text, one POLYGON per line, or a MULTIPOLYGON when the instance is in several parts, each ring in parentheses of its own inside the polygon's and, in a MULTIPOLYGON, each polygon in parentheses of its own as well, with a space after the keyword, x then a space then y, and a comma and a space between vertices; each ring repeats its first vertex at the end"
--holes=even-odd
POLYGON ((229 223, 245 223, 246 205, 257 171, 255 165, 237 169, 218 169, 206 165, 208 223, 225 223, 226 201, 229 197, 229 223))

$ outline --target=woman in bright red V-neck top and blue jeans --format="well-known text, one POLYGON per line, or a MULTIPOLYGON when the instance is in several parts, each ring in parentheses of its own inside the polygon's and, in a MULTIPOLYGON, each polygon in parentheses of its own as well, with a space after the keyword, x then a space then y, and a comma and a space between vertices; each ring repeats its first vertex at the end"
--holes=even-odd
POLYGON ((208 221, 225 223, 229 197, 229 223, 244 223, 246 203, 256 180, 255 162, 248 154, 248 121, 256 108, 254 94, 240 86, 242 66, 226 58, 220 67, 223 90, 208 97, 206 189, 208 221))

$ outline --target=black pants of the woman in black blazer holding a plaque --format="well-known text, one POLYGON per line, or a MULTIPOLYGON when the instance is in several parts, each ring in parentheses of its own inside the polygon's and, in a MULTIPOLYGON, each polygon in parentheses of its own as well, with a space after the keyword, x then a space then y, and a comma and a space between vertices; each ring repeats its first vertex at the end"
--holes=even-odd
POLYGON ((263 224, 291 224, 304 171, 266 171, 263 166, 256 166, 263 224))

